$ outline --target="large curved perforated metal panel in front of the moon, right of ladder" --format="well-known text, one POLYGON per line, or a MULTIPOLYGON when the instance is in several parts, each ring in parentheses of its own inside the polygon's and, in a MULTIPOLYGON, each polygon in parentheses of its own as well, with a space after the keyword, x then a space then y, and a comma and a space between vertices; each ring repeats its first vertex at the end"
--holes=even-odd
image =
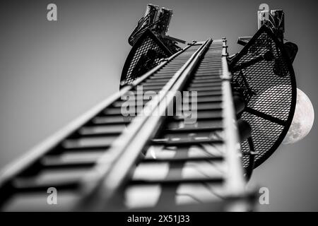
MULTIPOLYGON (((293 66, 283 44, 263 26, 233 59, 231 68, 232 86, 247 102, 241 117, 252 127, 257 167, 278 148, 293 119, 297 92, 293 66)), ((249 152, 247 141, 241 147, 249 152)), ((248 155, 243 155, 243 164, 249 166, 248 155)))

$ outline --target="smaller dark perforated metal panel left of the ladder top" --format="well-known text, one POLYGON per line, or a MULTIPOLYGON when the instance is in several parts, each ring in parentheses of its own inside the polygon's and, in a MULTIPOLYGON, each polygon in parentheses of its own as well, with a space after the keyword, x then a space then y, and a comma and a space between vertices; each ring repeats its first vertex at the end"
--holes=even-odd
POLYGON ((131 84, 136 78, 157 66, 161 59, 171 55, 170 50, 153 32, 146 30, 129 52, 122 70, 121 85, 131 84))

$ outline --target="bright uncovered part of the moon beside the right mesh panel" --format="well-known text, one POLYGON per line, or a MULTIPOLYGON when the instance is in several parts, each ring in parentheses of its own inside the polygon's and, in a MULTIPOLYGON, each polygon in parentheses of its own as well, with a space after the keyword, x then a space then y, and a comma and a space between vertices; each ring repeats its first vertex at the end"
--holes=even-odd
POLYGON ((312 107, 312 102, 310 102, 310 98, 302 90, 297 89, 295 114, 288 133, 283 140, 283 144, 300 141, 307 136, 313 124, 314 107, 312 107))

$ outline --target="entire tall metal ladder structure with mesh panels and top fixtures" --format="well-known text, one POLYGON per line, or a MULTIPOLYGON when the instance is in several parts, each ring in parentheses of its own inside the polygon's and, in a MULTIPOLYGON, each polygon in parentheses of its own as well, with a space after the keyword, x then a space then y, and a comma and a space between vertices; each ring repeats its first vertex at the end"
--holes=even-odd
POLYGON ((283 12, 271 15, 229 57, 225 38, 179 47, 184 41, 166 34, 172 10, 148 4, 129 37, 119 92, 4 169, 1 210, 252 210, 247 181, 295 111, 297 45, 284 43, 283 12), (184 104, 195 106, 195 123, 165 114, 184 104), (47 205, 50 187, 59 205, 47 205))

